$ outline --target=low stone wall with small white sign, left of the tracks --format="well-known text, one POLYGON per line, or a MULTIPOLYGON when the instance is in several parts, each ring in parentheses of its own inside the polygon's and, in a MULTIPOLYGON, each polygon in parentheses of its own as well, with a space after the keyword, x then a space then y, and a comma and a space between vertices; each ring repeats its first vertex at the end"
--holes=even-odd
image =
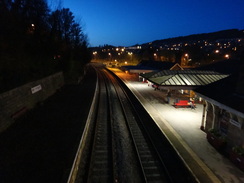
POLYGON ((16 118, 53 95, 63 85, 63 73, 59 72, 0 94, 0 133, 13 124, 16 118))

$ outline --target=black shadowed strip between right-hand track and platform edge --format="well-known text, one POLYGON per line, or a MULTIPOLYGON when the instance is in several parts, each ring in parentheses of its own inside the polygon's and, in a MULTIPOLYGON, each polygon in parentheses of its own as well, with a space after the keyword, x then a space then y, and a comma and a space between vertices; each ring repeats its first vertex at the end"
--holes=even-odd
POLYGON ((138 113, 140 127, 147 133, 148 139, 152 142, 155 152, 163 163, 171 182, 199 182, 189 167, 182 160, 181 156, 158 128, 150 114, 144 109, 140 101, 129 90, 126 84, 112 71, 108 70, 120 83, 130 102, 133 104, 134 112, 138 113), (144 115, 142 115, 144 114, 144 115))

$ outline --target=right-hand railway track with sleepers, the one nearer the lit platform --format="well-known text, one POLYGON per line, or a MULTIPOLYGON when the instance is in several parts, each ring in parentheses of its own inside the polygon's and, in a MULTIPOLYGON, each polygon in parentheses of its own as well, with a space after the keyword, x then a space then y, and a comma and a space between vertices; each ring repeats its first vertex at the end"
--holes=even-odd
POLYGON ((133 103, 123 89, 123 86, 120 85, 116 78, 112 78, 112 81, 117 95, 119 96, 121 107, 126 118, 126 125, 134 142, 134 147, 143 172, 144 181, 173 182, 163 161, 158 156, 158 152, 153 145, 150 136, 144 132, 145 129, 140 127, 140 115, 135 110, 133 103), (138 122, 138 120, 140 121, 138 122))

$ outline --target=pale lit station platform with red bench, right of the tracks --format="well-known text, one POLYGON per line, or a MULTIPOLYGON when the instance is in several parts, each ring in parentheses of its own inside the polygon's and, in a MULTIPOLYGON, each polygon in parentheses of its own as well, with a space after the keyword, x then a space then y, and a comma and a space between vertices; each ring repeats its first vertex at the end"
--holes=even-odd
POLYGON ((171 103, 167 104, 162 91, 139 82, 137 76, 115 68, 110 70, 123 79, 137 96, 199 182, 244 182, 244 172, 217 152, 208 143, 206 133, 200 129, 201 104, 196 104, 195 110, 175 108, 172 105, 174 96, 171 103))

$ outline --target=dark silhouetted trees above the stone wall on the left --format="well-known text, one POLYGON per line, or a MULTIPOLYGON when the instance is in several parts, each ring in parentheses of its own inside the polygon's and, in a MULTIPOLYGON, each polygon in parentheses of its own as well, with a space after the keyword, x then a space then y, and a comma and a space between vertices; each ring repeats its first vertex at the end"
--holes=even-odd
POLYGON ((87 37, 69 9, 1 0, 0 12, 0 92, 58 71, 76 80, 90 61, 87 37))

